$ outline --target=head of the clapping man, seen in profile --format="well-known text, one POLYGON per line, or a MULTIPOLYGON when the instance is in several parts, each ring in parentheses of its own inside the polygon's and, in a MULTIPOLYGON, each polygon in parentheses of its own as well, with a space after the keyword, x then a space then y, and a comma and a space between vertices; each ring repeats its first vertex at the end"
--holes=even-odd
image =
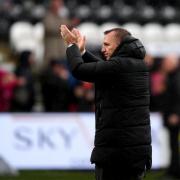
POLYGON ((114 28, 104 32, 104 41, 101 52, 106 60, 111 58, 116 48, 127 35, 131 34, 122 28, 114 28))

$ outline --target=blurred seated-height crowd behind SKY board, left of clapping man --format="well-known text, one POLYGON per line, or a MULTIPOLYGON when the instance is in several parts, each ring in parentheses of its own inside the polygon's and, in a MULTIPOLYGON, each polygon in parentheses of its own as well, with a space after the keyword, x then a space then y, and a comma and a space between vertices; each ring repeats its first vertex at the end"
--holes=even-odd
POLYGON ((18 61, 14 72, 0 67, 0 112, 37 111, 37 94, 41 96, 42 111, 94 111, 93 85, 73 78, 66 61, 52 59, 40 73, 33 72, 32 52, 23 51, 18 61))

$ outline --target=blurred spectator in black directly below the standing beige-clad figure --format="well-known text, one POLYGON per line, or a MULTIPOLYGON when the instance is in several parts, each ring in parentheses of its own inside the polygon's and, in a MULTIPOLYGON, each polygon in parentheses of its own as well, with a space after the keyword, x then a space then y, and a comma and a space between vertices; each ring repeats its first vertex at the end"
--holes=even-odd
POLYGON ((69 71, 65 63, 51 60, 41 76, 41 89, 46 112, 68 111, 71 99, 69 71))

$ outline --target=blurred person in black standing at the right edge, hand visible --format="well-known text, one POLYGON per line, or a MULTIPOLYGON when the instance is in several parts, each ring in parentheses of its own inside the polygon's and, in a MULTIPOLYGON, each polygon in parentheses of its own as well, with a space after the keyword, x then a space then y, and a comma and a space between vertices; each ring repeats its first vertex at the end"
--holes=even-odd
POLYGON ((168 174, 180 178, 179 130, 180 130, 180 61, 175 55, 163 59, 162 70, 167 76, 165 125, 169 130, 171 160, 168 174))

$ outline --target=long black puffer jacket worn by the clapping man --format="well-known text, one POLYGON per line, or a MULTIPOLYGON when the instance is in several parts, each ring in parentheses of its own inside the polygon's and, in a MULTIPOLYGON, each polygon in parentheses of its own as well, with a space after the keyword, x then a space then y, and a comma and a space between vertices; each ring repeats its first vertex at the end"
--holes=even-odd
POLYGON ((96 134, 92 163, 151 167, 149 74, 138 39, 124 38, 112 58, 103 61, 76 45, 67 49, 73 75, 95 82, 96 134))

